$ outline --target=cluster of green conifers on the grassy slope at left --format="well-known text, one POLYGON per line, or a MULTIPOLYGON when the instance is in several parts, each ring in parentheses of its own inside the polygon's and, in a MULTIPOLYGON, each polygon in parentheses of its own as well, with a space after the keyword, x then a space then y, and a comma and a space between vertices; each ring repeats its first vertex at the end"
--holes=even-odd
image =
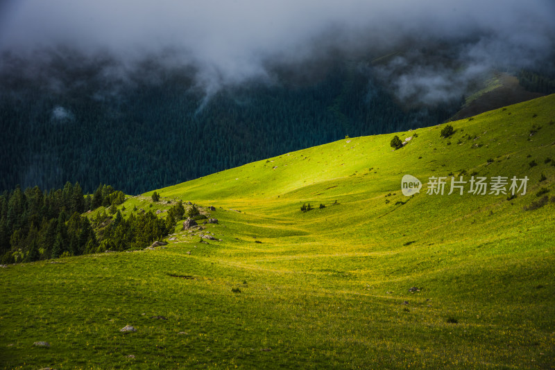
POLYGON ((83 195, 79 183, 41 191, 38 186, 22 191, 16 186, 0 195, 0 261, 17 263, 59 256, 147 247, 153 240, 173 231, 176 220, 185 213, 182 204, 171 208, 162 220, 151 212, 130 215, 123 220, 105 211, 92 222, 84 212, 99 206, 110 207, 125 201, 125 195, 101 184, 93 195, 83 195))

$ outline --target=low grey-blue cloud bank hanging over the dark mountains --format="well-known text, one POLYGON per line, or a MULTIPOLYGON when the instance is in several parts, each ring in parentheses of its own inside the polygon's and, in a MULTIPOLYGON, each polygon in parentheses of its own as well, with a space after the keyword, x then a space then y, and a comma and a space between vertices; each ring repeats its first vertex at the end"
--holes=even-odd
MULTIPOLYGON (((429 102, 493 67, 532 68, 554 57, 555 1, 230 0, 0 3, 0 53, 35 67, 37 51, 69 46, 91 58, 110 53, 114 74, 144 58, 194 66, 207 94, 225 85, 271 81, 268 65, 300 66, 330 51, 356 58, 401 52, 375 68, 399 98, 429 102), (422 48, 445 50, 430 60, 422 48), (462 66, 462 67, 461 67, 462 66)), ((0 66, 1 68, 1 66, 0 66)), ((107 73, 107 76, 110 73, 107 73)))

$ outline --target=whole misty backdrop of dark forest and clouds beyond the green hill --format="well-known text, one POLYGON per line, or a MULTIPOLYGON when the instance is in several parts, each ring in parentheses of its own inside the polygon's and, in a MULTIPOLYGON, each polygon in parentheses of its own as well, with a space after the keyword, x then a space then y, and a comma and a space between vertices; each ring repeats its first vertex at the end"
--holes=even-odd
MULTIPOLYGON (((554 86, 551 1, 5 1, 0 189, 142 193, 554 86)), ((555 90, 554 90, 555 91, 555 90)))

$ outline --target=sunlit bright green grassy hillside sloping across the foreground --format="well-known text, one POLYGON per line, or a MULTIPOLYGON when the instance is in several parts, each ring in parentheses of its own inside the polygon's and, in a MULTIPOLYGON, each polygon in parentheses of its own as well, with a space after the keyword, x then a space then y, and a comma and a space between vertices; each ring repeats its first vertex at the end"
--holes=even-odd
POLYGON ((154 250, 1 268, 0 363, 552 368, 554 120, 552 95, 450 123, 447 139, 444 125, 398 133, 412 137, 399 150, 393 134, 344 139, 162 188, 153 205, 131 197, 124 214, 184 200, 219 223, 178 225, 154 250), (447 195, 452 176, 529 181, 513 198, 447 195), (448 177, 444 195, 429 177, 448 177))

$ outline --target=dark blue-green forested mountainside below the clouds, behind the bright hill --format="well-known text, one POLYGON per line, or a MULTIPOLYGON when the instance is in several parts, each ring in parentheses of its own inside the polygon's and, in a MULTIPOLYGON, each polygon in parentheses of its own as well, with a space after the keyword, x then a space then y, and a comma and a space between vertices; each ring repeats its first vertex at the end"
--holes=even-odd
POLYGON ((159 71, 156 83, 133 76, 113 94, 94 64, 101 60, 56 60, 44 76, 65 82, 58 91, 18 77, 25 73, 0 76, 0 189, 69 180, 87 193, 99 182, 144 193, 345 134, 435 124, 461 103, 406 109, 368 69, 339 62, 318 78, 276 71, 275 85, 229 87, 206 100, 187 72, 159 71))

